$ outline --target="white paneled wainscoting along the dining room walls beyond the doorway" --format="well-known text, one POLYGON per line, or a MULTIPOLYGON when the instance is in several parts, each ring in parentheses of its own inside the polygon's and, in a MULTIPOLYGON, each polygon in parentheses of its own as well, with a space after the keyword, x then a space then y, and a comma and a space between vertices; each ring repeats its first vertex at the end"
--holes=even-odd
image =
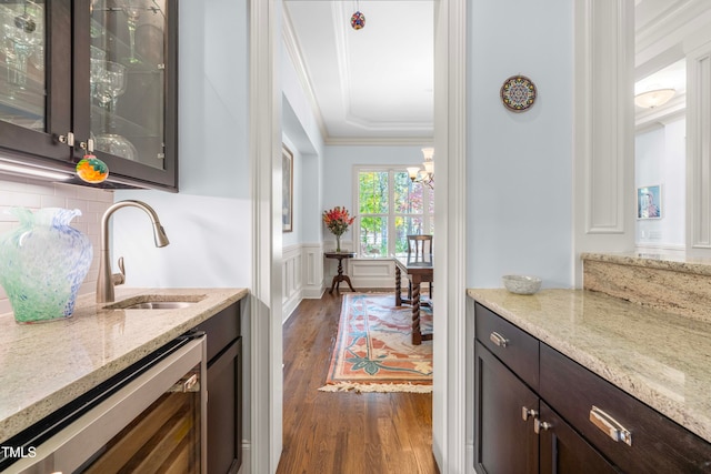
MULTIPOLYGON (((322 244, 302 243, 283 248, 282 269, 282 310, 287 321, 301 300, 320 299, 331 288, 338 262, 323 258, 322 244)), ((356 290, 395 286, 394 263, 389 260, 347 259, 343 272, 356 290)), ((348 290, 348 284, 341 283, 340 288, 348 290)))

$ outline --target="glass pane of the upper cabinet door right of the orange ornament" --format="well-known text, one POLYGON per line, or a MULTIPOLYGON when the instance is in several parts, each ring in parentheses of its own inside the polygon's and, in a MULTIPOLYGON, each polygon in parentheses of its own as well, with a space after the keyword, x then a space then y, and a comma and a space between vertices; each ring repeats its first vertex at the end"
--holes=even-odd
POLYGON ((166 3, 93 0, 89 6, 89 57, 81 74, 88 70, 89 88, 81 93, 89 95, 94 153, 118 159, 108 162, 113 173, 151 174, 150 169, 160 173, 168 168, 166 3))

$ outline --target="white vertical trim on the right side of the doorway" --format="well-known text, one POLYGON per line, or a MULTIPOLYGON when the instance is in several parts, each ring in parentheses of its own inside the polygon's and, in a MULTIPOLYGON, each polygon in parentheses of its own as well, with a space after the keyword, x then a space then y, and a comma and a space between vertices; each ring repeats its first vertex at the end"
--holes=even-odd
POLYGON ((467 472, 467 2, 435 3, 434 149, 438 240, 432 448, 442 473, 467 472), (444 370, 441 370, 441 369, 444 370))

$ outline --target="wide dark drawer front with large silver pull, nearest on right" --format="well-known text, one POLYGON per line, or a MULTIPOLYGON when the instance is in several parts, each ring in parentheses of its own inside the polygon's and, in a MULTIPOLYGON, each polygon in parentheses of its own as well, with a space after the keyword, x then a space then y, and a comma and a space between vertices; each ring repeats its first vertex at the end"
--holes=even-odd
POLYGON ((541 397, 622 471, 711 470, 711 444, 701 437, 543 343, 540 357, 541 397), (593 406, 629 431, 631 445, 598 427, 604 414, 591 415, 593 406))

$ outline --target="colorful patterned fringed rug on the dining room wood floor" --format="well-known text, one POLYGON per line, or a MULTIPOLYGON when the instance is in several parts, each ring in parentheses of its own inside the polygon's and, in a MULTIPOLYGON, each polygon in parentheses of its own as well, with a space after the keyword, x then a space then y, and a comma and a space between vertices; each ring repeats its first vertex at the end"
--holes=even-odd
MULTIPOLYGON (((420 311, 423 332, 432 312, 420 311)), ((432 391, 432 341, 412 345, 412 309, 395 306, 394 296, 344 293, 341 320, 323 392, 432 391)))

